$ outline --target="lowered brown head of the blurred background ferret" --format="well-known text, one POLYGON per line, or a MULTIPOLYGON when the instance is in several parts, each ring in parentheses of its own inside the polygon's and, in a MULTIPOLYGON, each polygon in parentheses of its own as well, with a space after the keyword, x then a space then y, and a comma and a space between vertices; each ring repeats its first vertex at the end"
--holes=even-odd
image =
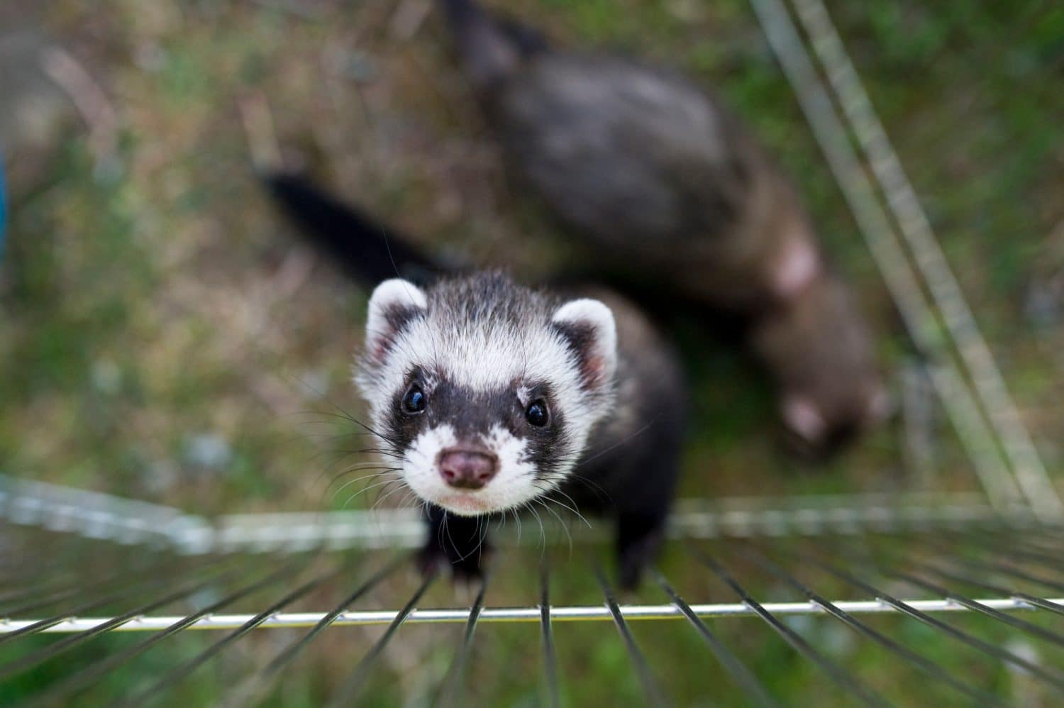
POLYGON ((788 439, 808 456, 834 451, 890 413, 871 335, 851 300, 825 276, 753 331, 754 348, 780 386, 788 439))

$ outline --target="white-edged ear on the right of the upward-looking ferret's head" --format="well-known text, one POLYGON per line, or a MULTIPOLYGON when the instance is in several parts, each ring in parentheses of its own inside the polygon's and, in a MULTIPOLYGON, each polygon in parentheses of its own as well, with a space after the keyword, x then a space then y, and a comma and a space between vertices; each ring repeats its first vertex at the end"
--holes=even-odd
POLYGON ((598 391, 617 369, 617 326, 613 312, 599 300, 570 300, 551 318, 580 362, 584 389, 598 391))

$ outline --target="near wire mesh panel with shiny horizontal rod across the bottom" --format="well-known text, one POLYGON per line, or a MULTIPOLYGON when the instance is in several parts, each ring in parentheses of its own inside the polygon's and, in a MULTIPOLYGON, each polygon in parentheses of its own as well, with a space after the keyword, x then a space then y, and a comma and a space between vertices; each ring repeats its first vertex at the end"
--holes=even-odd
MULTIPOLYGON (((779 524, 778 512, 749 513, 751 528, 779 524)), ((216 689, 244 705, 313 677, 323 701, 347 705, 370 686, 489 701, 504 678, 510 695, 558 702, 560 686, 579 695, 593 682, 579 659, 592 641, 630 662, 630 685, 598 687, 611 701, 997 704, 1064 691, 1064 530, 1031 518, 905 526, 685 533, 625 596, 599 544, 525 544, 461 602, 449 582, 412 572, 405 551, 188 555, 7 524, 0 686, 40 705, 216 689), (698 573, 672 577, 686 565, 698 573), (662 631, 671 651, 648 639, 662 631), (676 670, 692 661, 702 670, 676 670), (808 684, 777 685, 780 662, 807 664, 808 684)))

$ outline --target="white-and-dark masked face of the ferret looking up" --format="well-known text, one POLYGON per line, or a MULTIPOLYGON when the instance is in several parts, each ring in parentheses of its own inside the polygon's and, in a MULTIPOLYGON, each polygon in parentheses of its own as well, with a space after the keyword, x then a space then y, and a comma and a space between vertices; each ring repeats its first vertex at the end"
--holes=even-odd
POLYGON ((378 285, 355 381, 403 481, 476 515, 520 507, 572 472, 612 406, 616 363, 602 302, 554 301, 489 273, 378 285))

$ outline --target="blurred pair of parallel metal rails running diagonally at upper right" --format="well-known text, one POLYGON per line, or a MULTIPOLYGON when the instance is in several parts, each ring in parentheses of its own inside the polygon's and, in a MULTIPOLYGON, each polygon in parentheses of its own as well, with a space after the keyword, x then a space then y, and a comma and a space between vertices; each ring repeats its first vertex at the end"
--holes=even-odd
POLYGON ((783 0, 751 2, 991 503, 1059 521, 1064 503, 822 1, 793 4, 827 85, 783 0))

